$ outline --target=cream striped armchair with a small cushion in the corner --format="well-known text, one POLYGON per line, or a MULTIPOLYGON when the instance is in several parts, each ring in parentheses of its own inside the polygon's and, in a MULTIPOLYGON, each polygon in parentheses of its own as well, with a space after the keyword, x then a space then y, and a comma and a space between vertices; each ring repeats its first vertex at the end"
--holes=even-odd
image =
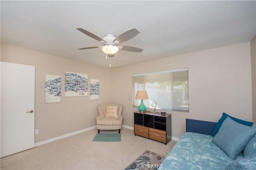
POLYGON ((120 133, 122 128, 123 106, 121 104, 100 104, 98 105, 99 115, 96 117, 98 133, 100 130, 117 130, 120 133), (116 108, 117 107, 117 108, 116 108))

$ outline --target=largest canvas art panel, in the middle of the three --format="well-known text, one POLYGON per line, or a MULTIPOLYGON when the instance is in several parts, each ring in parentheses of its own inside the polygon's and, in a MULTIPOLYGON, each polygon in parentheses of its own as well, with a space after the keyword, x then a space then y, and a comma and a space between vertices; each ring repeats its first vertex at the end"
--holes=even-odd
POLYGON ((65 72, 65 96, 88 96, 88 74, 65 72))

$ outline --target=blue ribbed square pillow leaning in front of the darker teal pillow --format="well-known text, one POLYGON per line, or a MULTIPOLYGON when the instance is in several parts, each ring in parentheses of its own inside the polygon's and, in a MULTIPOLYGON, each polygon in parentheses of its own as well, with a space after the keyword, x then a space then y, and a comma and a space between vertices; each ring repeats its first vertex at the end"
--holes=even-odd
POLYGON ((254 135, 256 128, 242 125, 227 117, 219 132, 212 138, 212 142, 231 159, 235 159, 254 135))

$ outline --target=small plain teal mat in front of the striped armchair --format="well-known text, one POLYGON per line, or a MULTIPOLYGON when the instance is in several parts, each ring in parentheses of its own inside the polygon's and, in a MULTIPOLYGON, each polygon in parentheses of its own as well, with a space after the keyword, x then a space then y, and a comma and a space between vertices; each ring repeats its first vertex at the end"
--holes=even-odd
POLYGON ((121 133, 96 133, 92 141, 98 142, 120 142, 121 133))

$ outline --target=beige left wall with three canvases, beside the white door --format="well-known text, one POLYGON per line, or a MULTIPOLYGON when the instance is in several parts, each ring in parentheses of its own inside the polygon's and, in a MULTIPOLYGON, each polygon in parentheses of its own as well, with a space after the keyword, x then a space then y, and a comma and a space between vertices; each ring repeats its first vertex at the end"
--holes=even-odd
POLYGON ((1 44, 1 61, 36 66, 35 129, 39 129, 36 143, 95 126, 98 104, 110 102, 109 68, 4 44, 1 44), (90 100, 90 93, 65 97, 65 71, 88 74, 89 83, 90 79, 99 79, 100 100, 90 100), (61 76, 60 103, 45 104, 45 74, 61 76))

